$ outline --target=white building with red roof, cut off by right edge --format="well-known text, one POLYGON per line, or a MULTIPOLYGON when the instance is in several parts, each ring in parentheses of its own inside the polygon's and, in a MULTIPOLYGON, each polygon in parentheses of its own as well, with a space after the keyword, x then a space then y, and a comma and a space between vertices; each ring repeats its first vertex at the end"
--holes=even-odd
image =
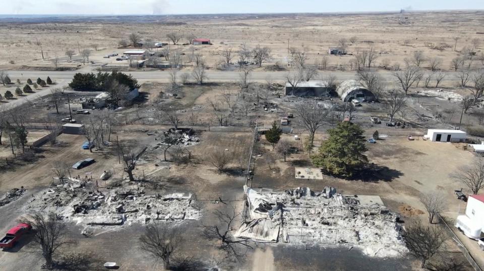
POLYGON ((479 239, 484 226, 484 194, 469 195, 465 215, 458 216, 455 227, 467 237, 479 239))

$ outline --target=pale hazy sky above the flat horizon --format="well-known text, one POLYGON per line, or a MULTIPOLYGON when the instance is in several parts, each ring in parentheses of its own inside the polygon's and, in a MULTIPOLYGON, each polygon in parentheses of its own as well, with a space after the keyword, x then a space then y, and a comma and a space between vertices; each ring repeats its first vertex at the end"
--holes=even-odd
POLYGON ((484 10, 484 0, 0 0, 0 14, 217 14, 484 10))

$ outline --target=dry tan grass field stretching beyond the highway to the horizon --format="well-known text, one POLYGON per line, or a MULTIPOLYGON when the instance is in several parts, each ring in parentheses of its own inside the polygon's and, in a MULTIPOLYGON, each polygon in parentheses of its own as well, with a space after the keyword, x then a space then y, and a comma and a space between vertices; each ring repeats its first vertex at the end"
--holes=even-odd
MULTIPOLYGON (((378 52, 377 65, 383 61, 395 66, 403 66, 404 58, 411 58, 414 51, 422 51, 427 58, 442 59, 443 70, 450 70, 450 61, 467 48, 474 48, 477 54, 473 65, 478 61, 484 42, 474 46, 473 40, 482 41, 484 36, 477 34, 484 23, 482 12, 429 12, 405 14, 352 14, 352 15, 226 15, 226 16, 168 16, 131 18, 120 21, 96 20, 70 21, 52 20, 47 23, 9 23, 4 21, 0 27, 0 66, 8 69, 27 69, 28 66, 52 68, 48 60, 61 57, 62 66, 74 67, 80 63, 79 55, 68 61, 65 52, 68 49, 76 53, 83 49, 92 50, 90 60, 107 63, 116 62, 103 59, 102 55, 110 52, 123 52, 117 49, 118 42, 128 39, 130 33, 139 33, 142 39, 168 42, 166 34, 178 32, 185 37, 194 34, 200 38, 209 38, 213 45, 194 46, 197 53, 202 53, 207 64, 216 67, 222 60, 221 51, 228 46, 238 50, 246 43, 249 48, 256 45, 268 46, 272 50, 272 64, 287 66, 291 60, 288 47, 305 52, 308 62, 320 63, 327 55, 329 47, 338 45, 341 38, 348 40, 348 54, 361 50, 373 49, 378 52), (138 22, 140 21, 140 22, 138 22), (350 42, 354 37, 354 43, 350 42), (455 40, 458 37, 456 51, 455 40), (44 59, 42 60, 41 43, 44 59), (289 44, 288 44, 289 43, 289 44), (97 44, 94 50, 93 44, 97 44), (77 59, 74 61, 74 59, 77 59)), ((179 44, 187 43, 187 38, 179 44)), ((172 45, 180 48, 186 55, 192 52, 190 45, 172 45)), ((155 49, 156 50, 156 49, 155 49)), ((330 69, 347 65, 353 57, 329 57, 330 69)), ((234 59, 235 60, 235 59, 234 59)), ((124 62, 124 61, 123 61, 124 62)), ((267 64, 266 64, 267 65, 267 64)), ((427 66, 425 63, 423 66, 427 66)))

